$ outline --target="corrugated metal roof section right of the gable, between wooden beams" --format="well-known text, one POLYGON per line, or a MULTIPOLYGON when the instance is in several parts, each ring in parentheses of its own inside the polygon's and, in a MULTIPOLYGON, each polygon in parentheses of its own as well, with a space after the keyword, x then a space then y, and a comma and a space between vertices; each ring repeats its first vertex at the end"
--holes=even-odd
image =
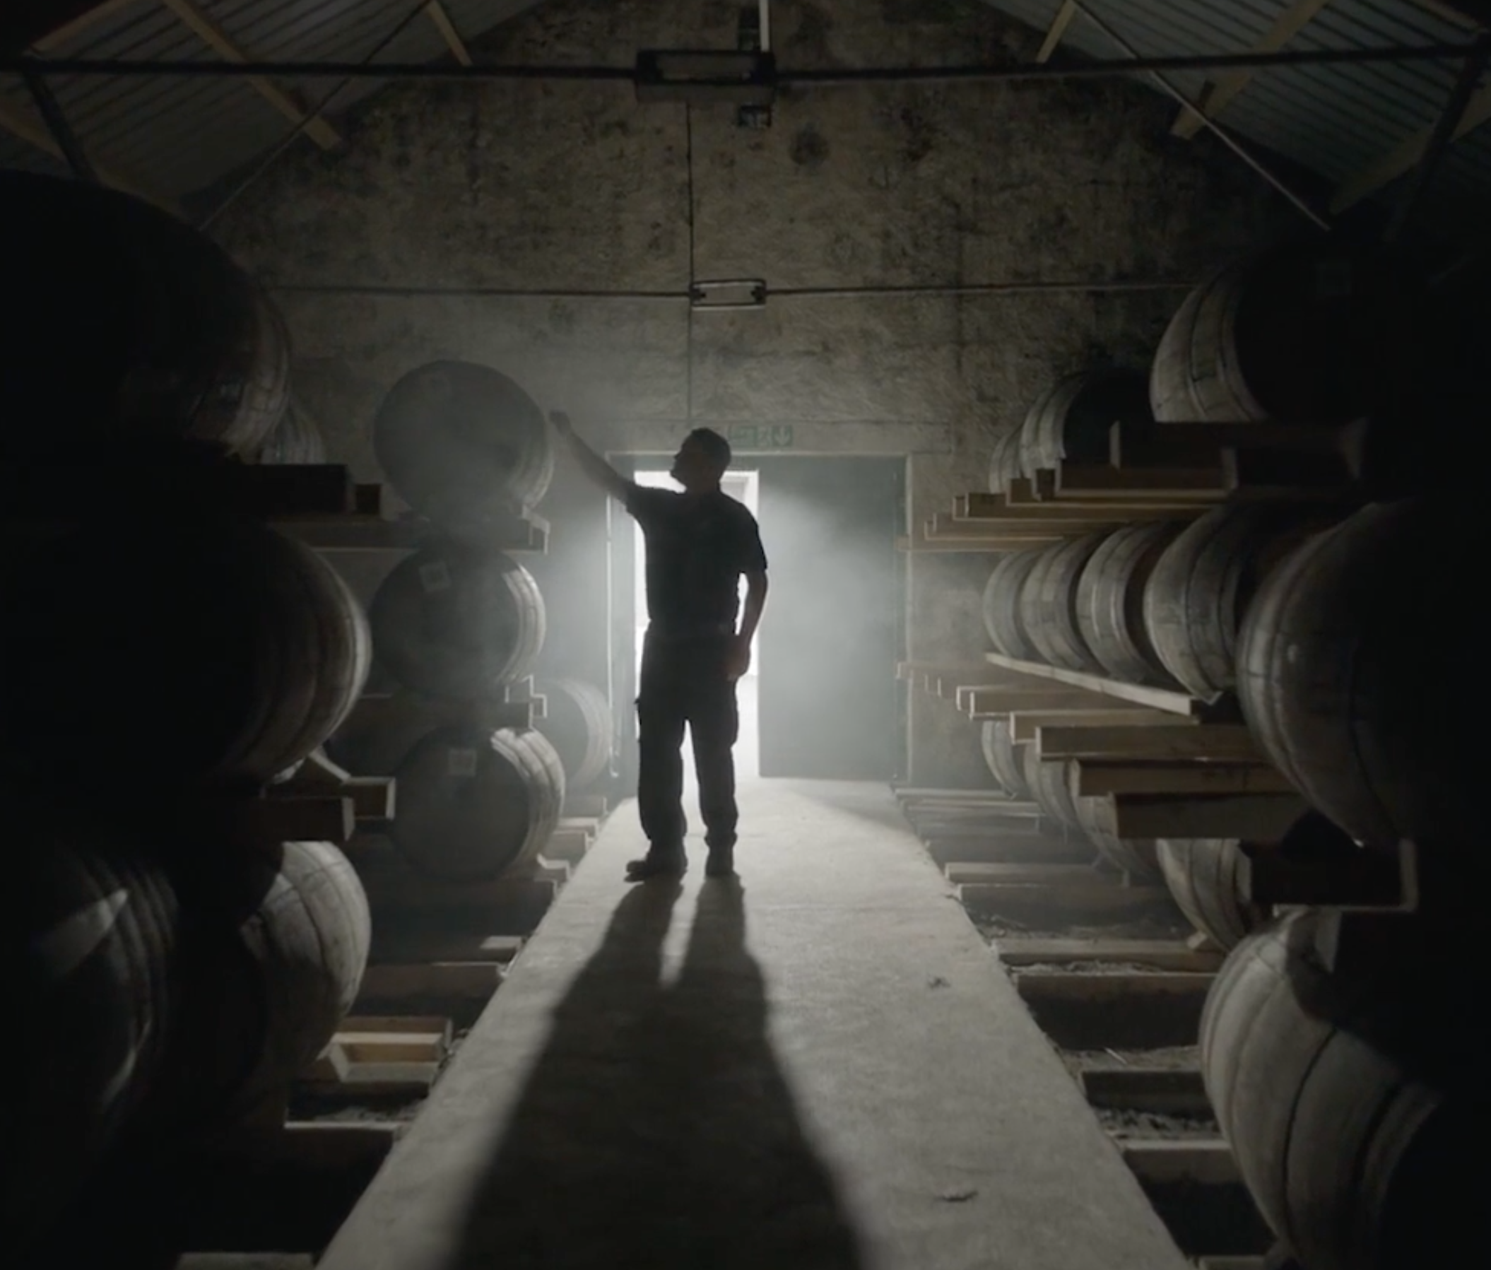
MULTIPOLYGON (((1012 18, 1047 30, 1060 0, 989 0, 1012 18)), ((1229 54, 1255 46, 1294 0, 1085 0, 1085 7, 1144 57, 1229 54)), ((1287 45, 1290 49, 1466 43, 1467 19, 1416 0, 1331 0, 1287 45)), ((1063 46, 1094 58, 1123 49, 1081 12, 1063 46)), ((1443 61, 1276 67, 1257 72, 1218 115, 1243 142, 1282 155, 1331 185, 1379 162, 1405 137, 1434 127, 1460 66, 1443 61)), ((1200 72, 1167 76, 1191 100, 1200 72)), ((1482 76, 1482 85, 1487 76, 1482 76)), ((1179 107, 1176 107, 1179 110, 1179 107)), ((1373 197, 1393 197, 1397 182, 1373 197)), ((1455 142, 1419 204, 1418 218, 1442 234, 1485 234, 1491 227, 1491 127, 1455 142)))

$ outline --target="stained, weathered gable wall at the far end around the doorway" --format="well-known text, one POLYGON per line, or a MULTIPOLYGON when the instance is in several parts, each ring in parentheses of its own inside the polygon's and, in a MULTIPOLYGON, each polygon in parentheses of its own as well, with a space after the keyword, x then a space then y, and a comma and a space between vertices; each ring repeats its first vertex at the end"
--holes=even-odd
MULTIPOLYGON (((476 46, 629 66, 641 48, 734 48, 741 7, 550 0, 476 46)), ((1041 37, 975 0, 772 6, 795 64, 1027 61, 1041 37)), ((986 487, 996 429, 1056 379, 1147 365, 1190 285, 1296 228, 1211 137, 1167 136, 1172 115, 1118 79, 801 89, 769 128, 640 104, 628 82, 404 82, 349 115, 344 152, 288 154, 213 231, 273 289, 294 391, 361 480, 379 478, 380 395, 459 358, 613 453, 669 453, 705 425, 743 462, 901 458, 917 525, 986 487), (741 277, 768 283, 763 307, 680 298, 741 277), (1011 283, 1047 289, 947 291, 1011 283)), ((568 461, 540 511, 546 665, 605 683, 617 516, 568 461)), ((990 565, 910 556, 908 657, 981 654, 990 565)), ((989 783, 950 704, 911 695, 907 727, 908 780, 989 783)))

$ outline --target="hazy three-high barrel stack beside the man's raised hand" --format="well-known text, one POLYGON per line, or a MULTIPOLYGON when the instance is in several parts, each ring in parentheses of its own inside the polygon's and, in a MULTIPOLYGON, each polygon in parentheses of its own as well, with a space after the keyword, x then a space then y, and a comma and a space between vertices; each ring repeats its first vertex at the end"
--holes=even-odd
POLYGON ((532 863, 559 821, 565 771, 537 729, 494 726, 544 642, 534 577, 502 550, 553 476, 549 425, 507 376, 429 362, 400 379, 373 425, 380 465, 432 534, 368 607, 398 692, 349 720, 331 754, 392 775, 389 836, 420 873, 489 881, 532 863))

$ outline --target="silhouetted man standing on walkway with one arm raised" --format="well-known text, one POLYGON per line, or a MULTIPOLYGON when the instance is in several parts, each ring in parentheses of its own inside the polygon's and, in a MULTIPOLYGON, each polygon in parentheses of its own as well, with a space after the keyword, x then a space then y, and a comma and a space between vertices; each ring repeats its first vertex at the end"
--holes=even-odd
POLYGON ((628 480, 574 435, 567 414, 550 416, 580 468, 620 499, 647 543, 647 636, 637 693, 641 771, 637 803, 647 856, 628 865, 629 881, 677 878, 687 869, 683 839, 683 727, 693 738, 699 812, 710 859, 704 872, 735 872, 735 757, 740 733, 735 683, 750 669, 750 644, 766 602, 766 553, 756 517, 720 489, 731 446, 696 428, 672 461, 683 493, 628 480), (746 605, 740 578, 746 575, 746 605), (740 619, 740 629, 735 623, 740 619))

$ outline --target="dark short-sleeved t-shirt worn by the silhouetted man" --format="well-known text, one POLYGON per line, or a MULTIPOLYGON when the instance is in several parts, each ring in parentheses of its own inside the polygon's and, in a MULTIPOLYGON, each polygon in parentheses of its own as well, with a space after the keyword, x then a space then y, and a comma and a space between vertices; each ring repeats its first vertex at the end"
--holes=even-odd
POLYGON ((728 493, 698 499, 634 486, 626 510, 647 540, 647 616, 665 635, 735 629, 740 575, 766 571, 756 517, 728 493))

